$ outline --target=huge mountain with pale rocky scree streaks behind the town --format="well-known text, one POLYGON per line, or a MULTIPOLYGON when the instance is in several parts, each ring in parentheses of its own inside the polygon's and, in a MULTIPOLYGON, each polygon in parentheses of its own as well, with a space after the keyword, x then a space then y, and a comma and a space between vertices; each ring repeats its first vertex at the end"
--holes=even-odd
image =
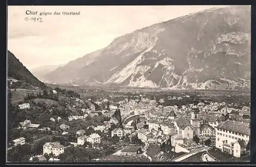
POLYGON ((45 78, 78 85, 248 89, 250 18, 250 7, 232 6, 157 23, 45 78))

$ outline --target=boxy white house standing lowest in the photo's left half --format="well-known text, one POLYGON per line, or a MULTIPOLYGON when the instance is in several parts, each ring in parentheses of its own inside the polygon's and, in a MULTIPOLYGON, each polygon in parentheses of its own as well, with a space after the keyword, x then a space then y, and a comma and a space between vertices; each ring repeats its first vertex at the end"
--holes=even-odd
POLYGON ((60 145, 59 142, 46 142, 43 146, 43 154, 51 154, 58 156, 64 153, 64 146, 60 145))

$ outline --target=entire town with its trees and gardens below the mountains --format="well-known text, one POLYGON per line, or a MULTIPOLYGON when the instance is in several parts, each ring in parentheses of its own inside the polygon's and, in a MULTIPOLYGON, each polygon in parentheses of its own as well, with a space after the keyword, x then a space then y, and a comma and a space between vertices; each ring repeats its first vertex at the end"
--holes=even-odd
POLYGON ((10 162, 249 160, 244 92, 25 92, 8 91, 10 162))

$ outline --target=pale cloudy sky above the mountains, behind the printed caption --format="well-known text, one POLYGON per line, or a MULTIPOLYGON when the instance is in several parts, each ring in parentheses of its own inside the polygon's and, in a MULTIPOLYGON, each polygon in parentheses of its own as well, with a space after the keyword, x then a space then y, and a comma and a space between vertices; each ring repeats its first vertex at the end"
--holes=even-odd
POLYGON ((212 7, 223 6, 9 6, 8 50, 28 69, 68 63, 126 33, 212 7), (33 16, 27 10, 52 15, 38 16, 44 22, 26 21, 33 16))

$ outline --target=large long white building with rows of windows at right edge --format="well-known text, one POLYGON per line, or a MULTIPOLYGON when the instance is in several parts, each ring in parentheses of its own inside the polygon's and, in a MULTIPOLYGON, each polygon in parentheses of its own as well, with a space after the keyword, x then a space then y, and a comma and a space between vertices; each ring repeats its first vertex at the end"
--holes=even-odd
POLYGON ((234 144, 242 140, 241 143, 247 145, 250 139, 249 124, 238 121, 226 121, 220 123, 216 128, 216 148, 233 156, 240 157, 241 154, 238 156, 239 150, 235 148, 236 145, 234 144))

